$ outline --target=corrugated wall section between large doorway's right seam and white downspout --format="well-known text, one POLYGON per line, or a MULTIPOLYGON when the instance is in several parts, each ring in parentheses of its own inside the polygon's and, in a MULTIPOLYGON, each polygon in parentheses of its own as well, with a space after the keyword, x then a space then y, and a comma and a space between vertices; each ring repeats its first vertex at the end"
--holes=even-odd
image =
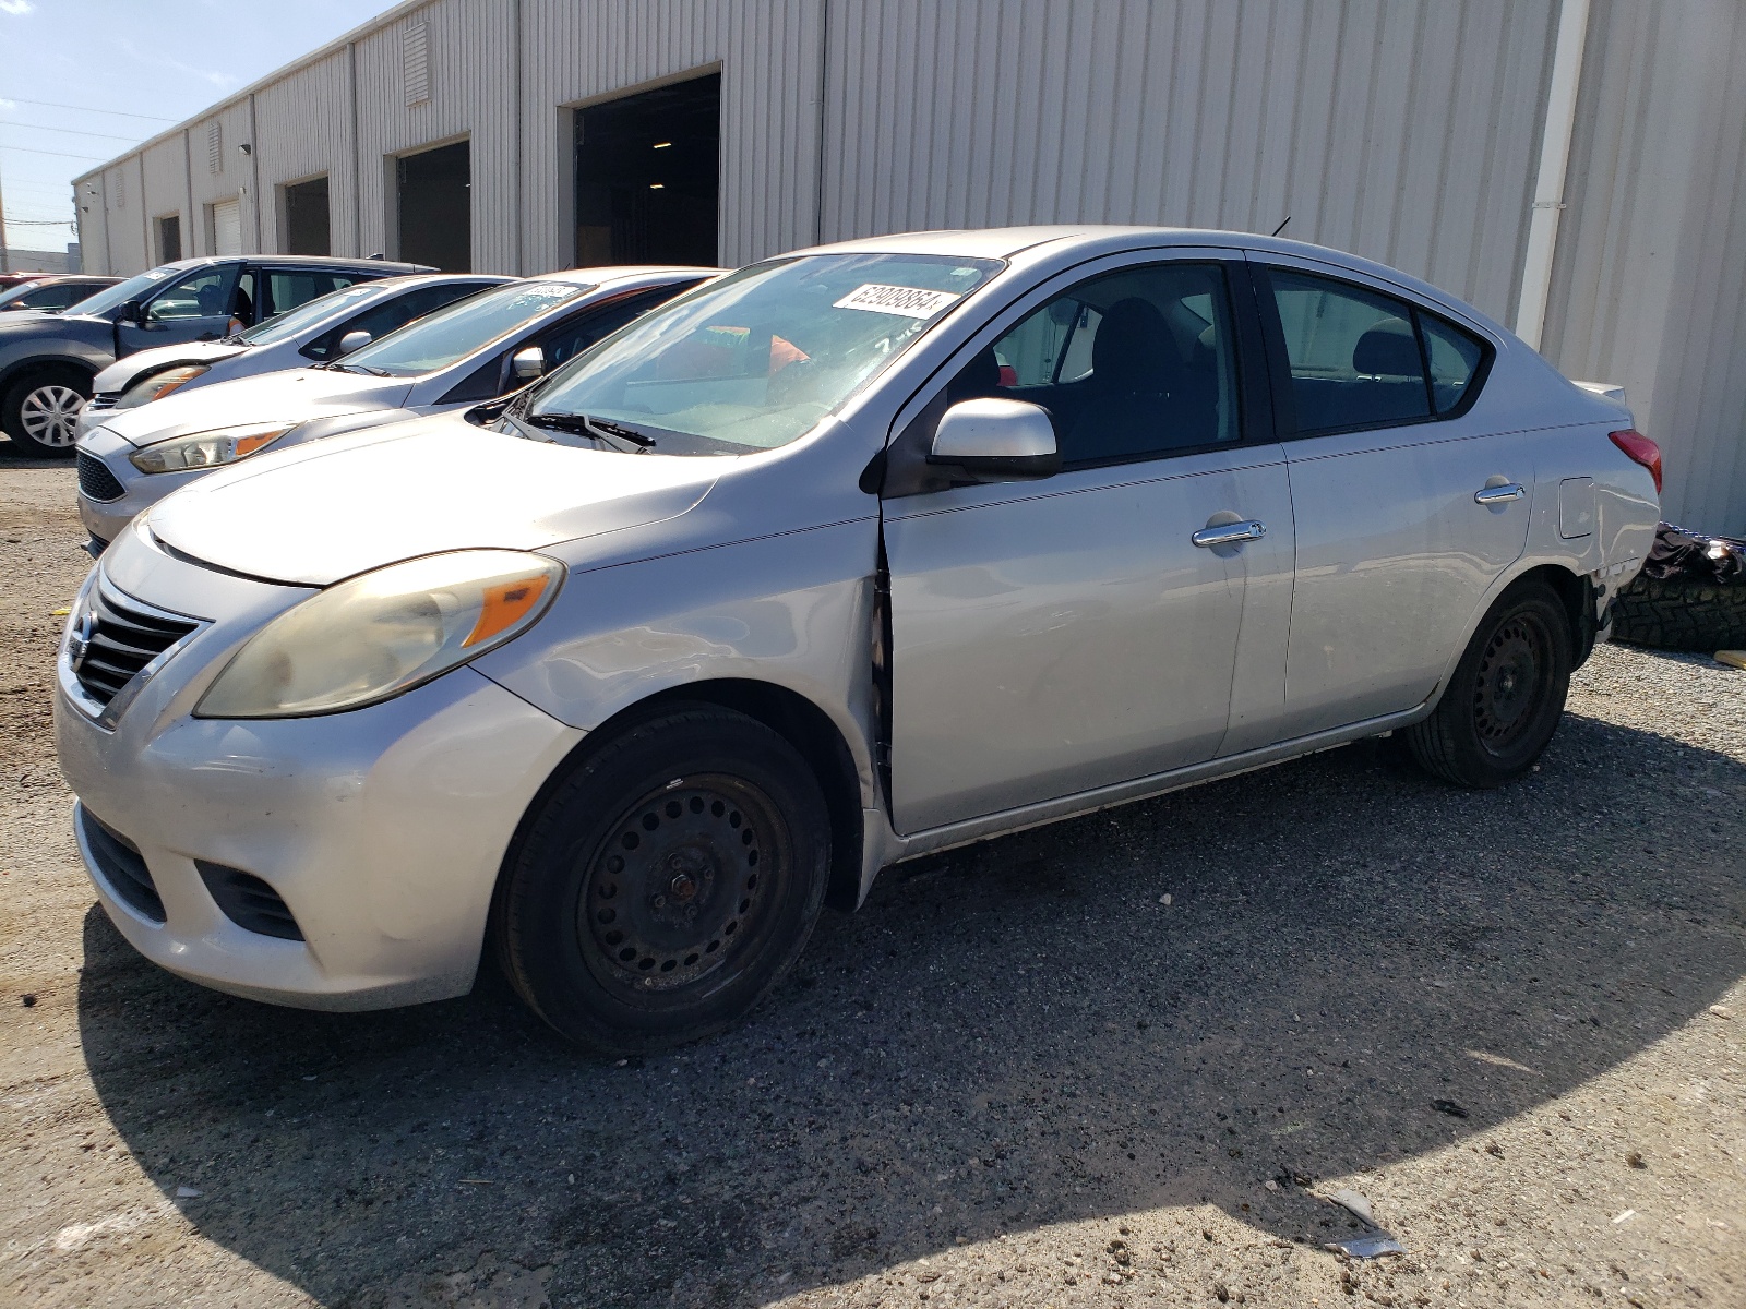
POLYGON ((1503 318, 1554 0, 868 0, 831 10, 824 230, 1271 232, 1503 318))

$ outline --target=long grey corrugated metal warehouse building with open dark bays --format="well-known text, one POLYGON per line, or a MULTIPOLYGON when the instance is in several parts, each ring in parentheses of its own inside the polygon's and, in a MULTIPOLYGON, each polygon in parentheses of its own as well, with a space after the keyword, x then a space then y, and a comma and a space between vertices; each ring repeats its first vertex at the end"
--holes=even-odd
POLYGON ((1739 534, 1741 68, 1739 0, 412 0, 75 185, 105 272, 1289 215, 1624 384, 1739 534))

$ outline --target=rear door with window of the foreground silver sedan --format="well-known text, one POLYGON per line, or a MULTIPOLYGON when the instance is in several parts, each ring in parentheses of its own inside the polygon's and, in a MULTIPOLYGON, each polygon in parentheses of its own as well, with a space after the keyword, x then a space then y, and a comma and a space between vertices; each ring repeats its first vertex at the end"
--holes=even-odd
POLYGON ((1252 258, 1297 522, 1289 740, 1437 689, 1526 546, 1535 471, 1526 443, 1475 415, 1482 337, 1348 272, 1252 258))

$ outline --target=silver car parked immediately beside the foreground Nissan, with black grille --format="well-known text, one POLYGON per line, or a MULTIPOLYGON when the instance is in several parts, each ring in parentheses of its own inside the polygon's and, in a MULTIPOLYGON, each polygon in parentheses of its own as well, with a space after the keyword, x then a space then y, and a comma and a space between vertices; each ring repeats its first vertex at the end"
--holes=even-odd
POLYGON ((108 410, 79 442, 79 517, 100 553, 148 504, 215 468, 526 386, 719 269, 550 272, 450 304, 339 360, 108 410))

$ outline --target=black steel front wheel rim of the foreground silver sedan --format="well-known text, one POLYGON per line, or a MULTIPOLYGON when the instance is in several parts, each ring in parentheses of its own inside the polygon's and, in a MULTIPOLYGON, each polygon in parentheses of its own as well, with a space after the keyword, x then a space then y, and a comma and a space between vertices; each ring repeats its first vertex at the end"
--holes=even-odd
POLYGON ((648 792, 588 859, 576 908, 588 970, 644 1004, 714 993, 758 955, 789 864, 780 810, 746 778, 648 792))

